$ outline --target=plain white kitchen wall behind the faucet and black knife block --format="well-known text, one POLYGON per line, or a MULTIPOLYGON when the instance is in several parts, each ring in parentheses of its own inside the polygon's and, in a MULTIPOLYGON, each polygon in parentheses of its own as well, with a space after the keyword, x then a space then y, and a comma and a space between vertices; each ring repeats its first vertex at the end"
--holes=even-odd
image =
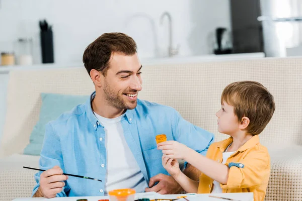
POLYGON ((41 62, 39 19, 53 25, 54 57, 59 64, 82 63, 86 46, 105 32, 124 32, 138 45, 141 58, 164 56, 168 50, 168 11, 174 47, 180 55, 212 53, 215 28, 230 28, 226 0, 0 0, 0 51, 16 48, 19 37, 33 37, 34 63, 41 62), (209 39, 211 39, 209 41, 209 39), (158 44, 158 45, 156 45, 158 44), (157 48, 158 46, 158 48, 157 48))

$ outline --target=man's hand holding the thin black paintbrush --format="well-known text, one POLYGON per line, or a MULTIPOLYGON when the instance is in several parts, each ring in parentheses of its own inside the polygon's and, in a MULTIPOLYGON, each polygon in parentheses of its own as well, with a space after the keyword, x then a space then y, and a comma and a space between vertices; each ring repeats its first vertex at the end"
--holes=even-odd
POLYGON ((63 170, 59 166, 54 166, 40 175, 40 186, 33 197, 52 198, 62 191, 65 185, 63 182, 68 176, 63 175, 63 170))

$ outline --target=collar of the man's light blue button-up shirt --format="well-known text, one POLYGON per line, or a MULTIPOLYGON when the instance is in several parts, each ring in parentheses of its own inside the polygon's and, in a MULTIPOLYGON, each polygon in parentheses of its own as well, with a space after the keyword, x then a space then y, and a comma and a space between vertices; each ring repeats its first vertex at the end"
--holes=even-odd
MULTIPOLYGON (((98 126, 101 126, 96 116, 93 114, 92 108, 91 108, 91 102, 93 98, 96 96, 96 91, 94 91, 90 97, 87 99, 85 103, 85 109, 87 113, 87 117, 91 123, 91 125, 94 127, 95 130, 97 130, 98 126)), ((132 124, 133 122, 133 116, 134 116, 134 110, 127 110, 124 114, 125 119, 128 121, 129 124, 132 124)))

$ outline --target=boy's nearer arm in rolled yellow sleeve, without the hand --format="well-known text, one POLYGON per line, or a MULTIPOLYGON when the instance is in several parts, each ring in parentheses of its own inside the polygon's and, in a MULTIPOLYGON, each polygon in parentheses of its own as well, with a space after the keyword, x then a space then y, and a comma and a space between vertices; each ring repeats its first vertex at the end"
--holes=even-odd
POLYGON ((218 181, 221 188, 247 188, 262 184, 269 175, 269 154, 266 149, 253 151, 238 163, 221 164, 190 149, 186 160, 210 178, 218 181))

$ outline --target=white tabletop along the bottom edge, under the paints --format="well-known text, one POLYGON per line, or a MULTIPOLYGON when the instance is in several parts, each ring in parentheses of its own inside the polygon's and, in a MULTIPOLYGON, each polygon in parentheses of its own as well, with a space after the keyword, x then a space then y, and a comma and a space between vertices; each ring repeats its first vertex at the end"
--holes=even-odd
MULTIPOLYGON (((143 197, 149 197, 153 196, 157 199, 174 199, 178 196, 183 196, 185 194, 170 194, 170 195, 162 195, 157 192, 144 192, 144 193, 137 193, 135 194, 135 199, 143 198, 143 197)), ((214 194, 196 194, 196 195, 187 195, 187 199, 190 201, 231 201, 228 199, 221 199, 221 198, 213 198, 209 197, 209 195, 214 195, 218 197, 226 197, 231 198, 235 200, 240 201, 253 201, 254 196, 252 192, 246 192, 246 193, 214 193, 214 194)), ((99 199, 109 199, 109 196, 86 196, 86 197, 55 197, 47 200, 51 201, 77 201, 77 199, 85 198, 88 201, 98 201, 99 199)), ((39 201, 43 200, 45 201, 46 198, 40 198, 40 197, 27 197, 27 198, 16 198, 13 201, 39 201)), ((185 199, 179 199, 179 201, 186 201, 185 199)))

